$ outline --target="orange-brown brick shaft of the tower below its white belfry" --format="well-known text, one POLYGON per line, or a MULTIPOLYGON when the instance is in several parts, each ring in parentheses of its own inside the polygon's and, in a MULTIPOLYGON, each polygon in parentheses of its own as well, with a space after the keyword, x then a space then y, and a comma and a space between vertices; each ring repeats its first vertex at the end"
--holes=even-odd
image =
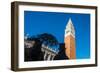
POLYGON ((68 35, 65 38, 65 53, 69 59, 76 58, 75 38, 72 35, 68 35))

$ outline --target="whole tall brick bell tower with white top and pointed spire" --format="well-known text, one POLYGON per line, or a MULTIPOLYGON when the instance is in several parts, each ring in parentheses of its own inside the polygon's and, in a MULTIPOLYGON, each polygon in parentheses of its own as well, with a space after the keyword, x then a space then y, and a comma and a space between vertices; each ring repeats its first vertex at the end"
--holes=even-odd
POLYGON ((64 43, 65 43, 66 56, 68 56, 69 59, 75 59, 76 58, 75 29, 71 19, 69 19, 66 25, 64 38, 65 38, 64 43))

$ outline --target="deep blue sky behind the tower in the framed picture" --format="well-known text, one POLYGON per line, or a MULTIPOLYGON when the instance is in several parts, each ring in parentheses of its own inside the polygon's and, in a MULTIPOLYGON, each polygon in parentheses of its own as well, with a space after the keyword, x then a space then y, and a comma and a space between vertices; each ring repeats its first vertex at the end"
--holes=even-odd
POLYGON ((75 27, 76 58, 90 58, 90 14, 25 11, 24 33, 29 36, 49 33, 64 43, 69 18, 75 27))

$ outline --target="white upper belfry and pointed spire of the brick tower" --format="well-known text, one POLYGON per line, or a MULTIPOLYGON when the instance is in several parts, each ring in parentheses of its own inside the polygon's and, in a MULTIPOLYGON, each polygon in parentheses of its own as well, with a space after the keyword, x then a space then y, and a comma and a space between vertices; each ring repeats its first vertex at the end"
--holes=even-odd
POLYGON ((68 35, 72 35, 75 38, 75 29, 74 29, 71 18, 69 18, 68 23, 66 25, 66 29, 65 29, 65 37, 68 35))

